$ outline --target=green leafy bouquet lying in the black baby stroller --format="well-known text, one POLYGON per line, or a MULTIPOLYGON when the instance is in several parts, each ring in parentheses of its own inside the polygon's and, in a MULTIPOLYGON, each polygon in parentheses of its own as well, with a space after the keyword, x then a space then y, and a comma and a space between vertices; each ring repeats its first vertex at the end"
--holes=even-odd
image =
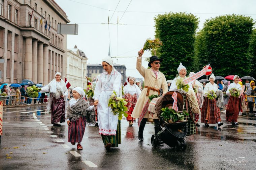
POLYGON ((185 110, 183 112, 176 112, 168 107, 162 108, 161 110, 161 117, 168 123, 183 122, 185 116, 189 115, 185 110))

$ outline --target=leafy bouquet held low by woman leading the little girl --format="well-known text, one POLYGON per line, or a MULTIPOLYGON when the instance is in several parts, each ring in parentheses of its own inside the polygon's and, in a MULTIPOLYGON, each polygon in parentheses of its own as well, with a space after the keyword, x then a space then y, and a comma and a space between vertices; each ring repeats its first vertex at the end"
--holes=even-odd
POLYGON ((123 99, 122 97, 117 97, 117 93, 114 91, 114 94, 110 96, 110 99, 108 101, 108 107, 111 108, 114 115, 118 114, 118 119, 121 120, 123 115, 124 117, 127 117, 127 105, 126 99, 123 99))

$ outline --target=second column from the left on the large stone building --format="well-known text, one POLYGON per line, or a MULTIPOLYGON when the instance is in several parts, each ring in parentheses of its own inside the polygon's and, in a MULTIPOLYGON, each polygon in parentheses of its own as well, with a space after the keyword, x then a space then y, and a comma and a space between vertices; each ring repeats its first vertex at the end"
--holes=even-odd
POLYGON ((37 41, 38 40, 33 40, 32 41, 32 81, 34 83, 38 83, 37 80, 37 68, 38 68, 38 61, 37 61, 37 41))

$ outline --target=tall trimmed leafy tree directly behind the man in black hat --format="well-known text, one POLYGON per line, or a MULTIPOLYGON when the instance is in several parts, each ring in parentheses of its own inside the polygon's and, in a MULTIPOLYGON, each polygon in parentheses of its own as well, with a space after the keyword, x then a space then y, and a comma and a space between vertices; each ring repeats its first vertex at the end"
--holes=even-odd
POLYGON ((173 79, 177 68, 182 62, 188 72, 194 61, 195 31, 198 28, 198 18, 193 14, 166 13, 155 18, 156 38, 163 42, 157 49, 157 55, 163 59, 160 71, 166 79, 173 79))

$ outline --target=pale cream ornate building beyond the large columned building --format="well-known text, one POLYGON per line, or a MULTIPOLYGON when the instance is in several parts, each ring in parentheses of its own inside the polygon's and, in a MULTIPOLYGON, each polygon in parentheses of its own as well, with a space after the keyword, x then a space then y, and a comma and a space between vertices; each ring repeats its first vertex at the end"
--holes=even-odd
POLYGON ((75 46, 67 49, 67 74, 66 78, 71 86, 86 88, 86 67, 87 60, 85 53, 75 46))

